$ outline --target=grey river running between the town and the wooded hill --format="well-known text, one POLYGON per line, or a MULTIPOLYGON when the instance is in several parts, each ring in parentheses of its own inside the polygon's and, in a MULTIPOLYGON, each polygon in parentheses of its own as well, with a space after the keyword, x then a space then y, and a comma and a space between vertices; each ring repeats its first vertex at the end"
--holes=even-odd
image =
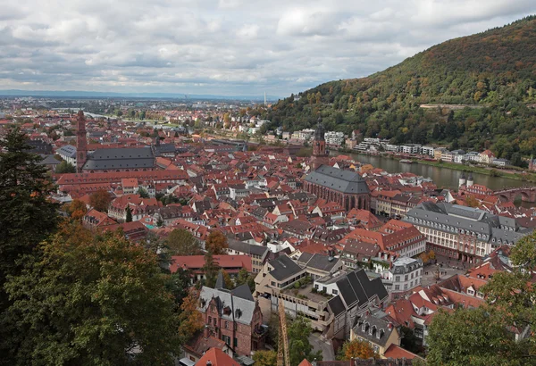
MULTIPOLYGON (((339 154, 332 152, 332 154, 339 154)), ((343 155, 349 155, 357 162, 372 164, 375 168, 381 168, 384 171, 389 173, 399 173, 399 172, 412 172, 416 175, 423 176, 425 178, 431 178, 433 182, 438 187, 453 188, 457 189, 458 180, 462 175, 463 171, 455 171, 448 168, 440 168, 431 165, 423 165, 418 163, 408 164, 404 162, 399 162, 395 159, 389 159, 388 157, 383 156, 372 156, 365 154, 355 154, 355 153, 340 153, 343 155)), ((468 173, 465 173, 468 175, 468 173)), ((474 183, 482 184, 483 186, 489 187, 493 190, 497 190, 504 187, 522 187, 526 186, 527 182, 523 180, 508 179, 508 178, 497 178, 491 177, 486 174, 473 173, 474 183)))

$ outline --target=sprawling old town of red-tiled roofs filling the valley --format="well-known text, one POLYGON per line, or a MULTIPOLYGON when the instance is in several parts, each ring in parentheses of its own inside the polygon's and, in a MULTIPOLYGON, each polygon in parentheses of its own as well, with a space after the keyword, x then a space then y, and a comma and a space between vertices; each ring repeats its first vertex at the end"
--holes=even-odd
MULTIPOLYGON (((214 105, 144 111, 150 123, 121 104, 116 118, 78 108, 0 116, 1 135, 19 126, 42 157, 63 216, 139 245, 158 238, 182 248, 168 270, 188 275, 201 323, 177 364, 260 365, 259 354, 287 349, 281 317, 310 328, 316 357, 300 366, 354 365, 344 358, 350 344, 370 350, 370 363, 359 364, 417 364, 434 318, 486 304, 482 287, 512 271, 512 247, 536 228, 536 209, 514 203, 534 203, 536 187, 494 191, 468 173, 457 189, 442 188, 333 151, 510 165, 489 150, 395 146, 325 131, 322 119, 314 129, 264 134, 270 121, 239 116, 246 105, 214 105), (218 137, 201 123, 259 138, 218 137), (278 140, 285 143, 270 144, 278 140), (299 154, 304 145, 310 156, 299 154), (333 363, 338 354, 347 361, 333 363)), ((528 329, 512 331, 523 338, 528 329)))

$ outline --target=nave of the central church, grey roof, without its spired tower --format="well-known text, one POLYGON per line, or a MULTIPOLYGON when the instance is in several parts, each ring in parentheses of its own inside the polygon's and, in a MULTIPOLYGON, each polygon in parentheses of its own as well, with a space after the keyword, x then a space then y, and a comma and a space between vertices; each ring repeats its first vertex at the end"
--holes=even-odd
POLYGON ((355 171, 322 165, 307 175, 303 187, 319 198, 340 204, 347 212, 353 208, 370 210, 370 190, 355 171))

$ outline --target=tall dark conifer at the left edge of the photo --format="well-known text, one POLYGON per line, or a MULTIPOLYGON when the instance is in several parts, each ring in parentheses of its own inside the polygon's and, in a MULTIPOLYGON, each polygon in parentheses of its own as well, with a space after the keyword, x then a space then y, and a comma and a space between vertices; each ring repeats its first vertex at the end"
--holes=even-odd
POLYGON ((7 357, 11 346, 2 340, 13 337, 4 326, 6 309, 13 304, 4 284, 9 276, 21 274, 24 262, 34 255, 38 243, 54 232, 58 222, 57 204, 47 199, 54 187, 38 154, 30 154, 28 137, 20 129, 10 129, 0 139, 0 364, 13 362, 7 357))

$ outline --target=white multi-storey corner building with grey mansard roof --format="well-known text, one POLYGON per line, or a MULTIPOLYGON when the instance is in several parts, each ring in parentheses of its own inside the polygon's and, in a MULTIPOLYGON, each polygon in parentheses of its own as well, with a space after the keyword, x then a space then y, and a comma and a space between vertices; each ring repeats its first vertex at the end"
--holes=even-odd
POLYGON ((383 285, 389 292, 389 300, 398 300, 421 285, 423 279, 423 261, 410 257, 400 257, 389 270, 381 274, 383 285))

